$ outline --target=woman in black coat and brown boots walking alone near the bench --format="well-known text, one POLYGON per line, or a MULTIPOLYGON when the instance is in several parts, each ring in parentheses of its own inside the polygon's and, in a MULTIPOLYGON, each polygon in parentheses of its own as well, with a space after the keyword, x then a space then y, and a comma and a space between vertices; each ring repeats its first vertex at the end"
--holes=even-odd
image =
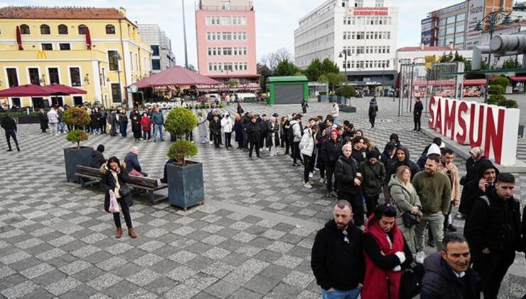
MULTIPOLYGON (((109 197, 111 195, 117 197, 122 214, 124 214, 126 226, 128 227, 128 234, 130 237, 136 238, 137 234, 132 226, 132 216, 129 214, 129 207, 134 204, 132 194, 121 194, 121 191, 124 190, 124 186, 129 182, 126 165, 124 165, 124 163, 121 164, 117 157, 111 157, 106 163, 102 164, 100 171, 103 174, 102 179, 100 180, 100 187, 105 194, 104 211, 109 213, 109 197)), ((127 189, 130 189, 130 187, 127 187, 127 189)), ((120 213, 113 213, 113 220, 115 221, 115 226, 117 226, 115 238, 120 238, 122 236, 120 213)))

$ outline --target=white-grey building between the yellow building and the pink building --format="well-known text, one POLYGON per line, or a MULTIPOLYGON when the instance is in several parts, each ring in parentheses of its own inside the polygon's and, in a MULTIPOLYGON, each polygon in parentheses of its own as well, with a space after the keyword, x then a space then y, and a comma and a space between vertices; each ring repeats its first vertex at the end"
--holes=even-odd
POLYGON ((151 46, 151 70, 153 73, 159 73, 161 70, 171 68, 176 65, 176 56, 172 53, 172 44, 170 38, 161 31, 156 24, 139 24, 139 34, 141 41, 151 46))

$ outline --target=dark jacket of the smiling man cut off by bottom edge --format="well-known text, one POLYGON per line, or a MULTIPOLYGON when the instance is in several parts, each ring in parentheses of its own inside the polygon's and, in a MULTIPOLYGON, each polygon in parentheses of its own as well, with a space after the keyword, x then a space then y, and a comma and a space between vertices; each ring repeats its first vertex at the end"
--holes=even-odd
POLYGON ((431 254, 424 260, 424 268, 426 273, 422 278, 421 299, 481 298, 481 278, 472 268, 468 268, 463 278, 457 278, 439 252, 431 254), (464 296, 466 292, 468 294, 464 296))

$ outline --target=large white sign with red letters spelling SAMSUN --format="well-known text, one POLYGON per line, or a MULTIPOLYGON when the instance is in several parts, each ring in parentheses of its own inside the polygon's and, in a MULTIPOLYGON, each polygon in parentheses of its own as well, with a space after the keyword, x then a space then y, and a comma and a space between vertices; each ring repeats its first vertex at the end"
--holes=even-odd
POLYGON ((515 164, 520 110, 433 97, 429 115, 431 130, 461 145, 483 147, 485 157, 497 164, 515 164))

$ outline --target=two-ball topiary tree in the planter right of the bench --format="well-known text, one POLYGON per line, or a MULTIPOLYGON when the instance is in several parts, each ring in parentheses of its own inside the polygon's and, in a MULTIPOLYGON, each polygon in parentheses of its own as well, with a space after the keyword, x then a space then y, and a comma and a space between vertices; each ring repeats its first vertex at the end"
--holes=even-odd
MULTIPOLYGON (((168 113, 166 117, 165 127, 170 134, 177 137, 186 135, 198 125, 198 120, 192 111, 183 107, 176 107, 168 113)), ((186 140, 178 140, 168 149, 168 157, 175 159, 177 164, 186 165, 185 159, 195 156, 198 152, 198 147, 192 142, 186 140)))

